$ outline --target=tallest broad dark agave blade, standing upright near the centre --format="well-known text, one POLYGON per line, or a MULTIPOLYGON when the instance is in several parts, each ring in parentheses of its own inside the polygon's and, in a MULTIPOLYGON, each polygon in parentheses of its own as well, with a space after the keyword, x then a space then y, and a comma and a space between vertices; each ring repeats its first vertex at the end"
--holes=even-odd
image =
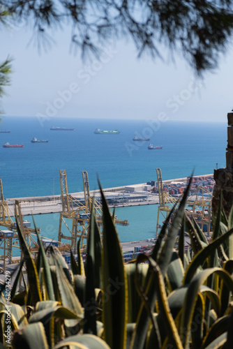
MULTIPOLYGON (((100 182, 99 182, 100 186, 100 182)), ((103 323, 111 349, 126 348, 127 279, 117 230, 100 186, 103 205, 103 323)))

